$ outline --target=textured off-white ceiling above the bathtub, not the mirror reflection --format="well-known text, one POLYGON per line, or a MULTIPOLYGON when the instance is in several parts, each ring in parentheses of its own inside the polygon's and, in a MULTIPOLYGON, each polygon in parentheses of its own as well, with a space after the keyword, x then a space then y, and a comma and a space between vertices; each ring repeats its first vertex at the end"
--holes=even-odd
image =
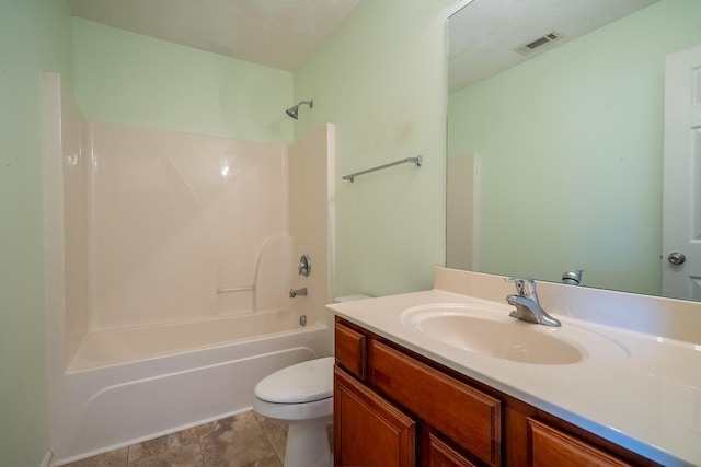
POLYGON ((68 0, 74 16, 295 71, 360 0, 68 0))

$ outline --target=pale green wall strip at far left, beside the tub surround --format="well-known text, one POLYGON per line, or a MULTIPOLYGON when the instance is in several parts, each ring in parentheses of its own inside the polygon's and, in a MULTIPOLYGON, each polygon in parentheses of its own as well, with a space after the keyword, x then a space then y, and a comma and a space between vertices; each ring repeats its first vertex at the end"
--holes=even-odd
POLYGON ((71 77, 64 1, 0 0, 0 464, 48 450, 42 71, 71 77))

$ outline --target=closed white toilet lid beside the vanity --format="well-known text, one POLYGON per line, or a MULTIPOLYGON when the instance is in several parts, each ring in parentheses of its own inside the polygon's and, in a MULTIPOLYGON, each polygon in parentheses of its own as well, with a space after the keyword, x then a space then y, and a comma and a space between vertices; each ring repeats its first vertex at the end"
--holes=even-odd
POLYGON ((333 357, 279 370, 258 382, 255 397, 268 402, 301 404, 333 396, 333 357))

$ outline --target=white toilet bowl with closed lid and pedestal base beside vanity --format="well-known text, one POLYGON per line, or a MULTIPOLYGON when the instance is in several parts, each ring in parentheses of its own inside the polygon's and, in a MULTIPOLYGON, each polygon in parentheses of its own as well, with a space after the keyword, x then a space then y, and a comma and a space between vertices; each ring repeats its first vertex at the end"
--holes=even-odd
POLYGON ((330 467, 334 358, 279 370, 253 389, 253 410, 288 423, 285 467, 330 467))

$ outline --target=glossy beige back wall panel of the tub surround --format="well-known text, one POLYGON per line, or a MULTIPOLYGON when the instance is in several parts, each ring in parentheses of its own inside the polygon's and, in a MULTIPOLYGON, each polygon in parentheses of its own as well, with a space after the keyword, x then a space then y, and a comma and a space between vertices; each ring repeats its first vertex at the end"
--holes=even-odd
POLYGON ((256 287, 285 306, 284 145, 104 122, 90 137, 91 330, 250 313, 256 287))

